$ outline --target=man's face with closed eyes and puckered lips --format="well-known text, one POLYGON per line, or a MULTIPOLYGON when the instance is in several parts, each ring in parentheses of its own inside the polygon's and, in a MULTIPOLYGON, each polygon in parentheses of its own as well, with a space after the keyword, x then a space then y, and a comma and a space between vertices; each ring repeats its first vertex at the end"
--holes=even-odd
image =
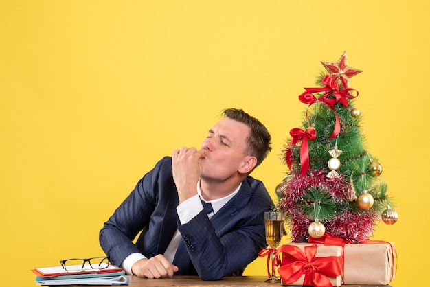
POLYGON ((202 179, 224 181, 238 174, 238 169, 245 160, 247 138, 250 130, 246 124, 229 117, 220 119, 209 130, 201 145, 205 158, 201 160, 202 179))

